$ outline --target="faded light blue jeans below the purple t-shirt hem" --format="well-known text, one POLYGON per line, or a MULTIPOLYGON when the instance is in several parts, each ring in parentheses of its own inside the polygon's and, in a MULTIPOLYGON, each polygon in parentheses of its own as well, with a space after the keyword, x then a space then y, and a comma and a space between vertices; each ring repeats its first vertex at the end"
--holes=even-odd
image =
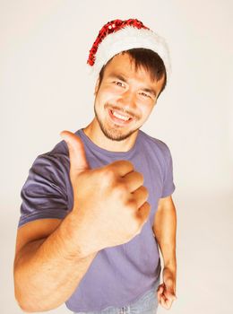
POLYGON ((160 278, 155 283, 153 289, 145 292, 140 299, 123 308, 114 308, 110 306, 101 311, 73 312, 73 314, 156 314, 158 308, 157 288, 159 284, 160 278))

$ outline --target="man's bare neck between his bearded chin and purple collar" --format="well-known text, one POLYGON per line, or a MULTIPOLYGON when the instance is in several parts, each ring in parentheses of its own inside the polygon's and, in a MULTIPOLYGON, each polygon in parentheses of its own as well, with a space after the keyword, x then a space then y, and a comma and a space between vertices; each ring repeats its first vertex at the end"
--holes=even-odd
POLYGON ((129 135, 127 138, 125 138, 125 140, 111 140, 103 134, 96 118, 94 118, 88 126, 83 128, 83 132, 91 139, 94 144, 110 152, 129 151, 134 146, 136 137, 138 135, 138 130, 136 130, 132 135, 129 135))

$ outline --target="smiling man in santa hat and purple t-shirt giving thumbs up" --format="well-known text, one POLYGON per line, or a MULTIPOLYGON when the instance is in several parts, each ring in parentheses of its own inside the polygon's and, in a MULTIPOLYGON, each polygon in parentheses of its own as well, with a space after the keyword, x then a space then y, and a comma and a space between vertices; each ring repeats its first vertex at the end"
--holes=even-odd
POLYGON ((90 51, 95 117, 34 161, 14 261, 22 310, 155 313, 176 299, 176 209, 168 146, 140 130, 169 74, 142 22, 108 22, 90 51), (160 254, 164 260, 160 283, 160 254))

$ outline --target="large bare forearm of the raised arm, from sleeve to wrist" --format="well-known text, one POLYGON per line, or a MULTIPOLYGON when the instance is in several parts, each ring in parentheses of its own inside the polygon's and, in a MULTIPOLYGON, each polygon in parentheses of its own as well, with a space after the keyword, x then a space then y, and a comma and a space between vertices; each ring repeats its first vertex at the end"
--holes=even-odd
POLYGON ((46 240, 28 243, 14 262, 15 296, 22 310, 44 311, 64 303, 79 285, 98 252, 88 256, 73 215, 46 240))

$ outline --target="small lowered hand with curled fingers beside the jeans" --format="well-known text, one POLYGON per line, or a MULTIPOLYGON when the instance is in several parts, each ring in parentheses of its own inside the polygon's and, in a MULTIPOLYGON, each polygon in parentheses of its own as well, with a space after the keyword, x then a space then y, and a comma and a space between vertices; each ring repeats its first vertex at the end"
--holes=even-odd
POLYGON ((168 267, 163 268, 163 283, 157 289, 157 297, 160 305, 165 309, 170 309, 176 296, 176 274, 168 267))

